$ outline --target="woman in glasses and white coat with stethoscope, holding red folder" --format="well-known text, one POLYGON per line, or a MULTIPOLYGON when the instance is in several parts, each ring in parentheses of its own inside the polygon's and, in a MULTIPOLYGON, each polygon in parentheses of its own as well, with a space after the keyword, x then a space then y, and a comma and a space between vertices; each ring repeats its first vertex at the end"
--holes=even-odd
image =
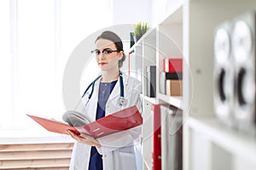
MULTIPOLYGON (((112 31, 104 31, 96 38, 96 48, 92 53, 101 68, 101 77, 97 77, 83 95, 83 113, 90 121, 95 121, 132 105, 137 105, 141 111, 141 83, 119 71, 125 60, 121 39, 112 31)), ((100 139, 85 134, 76 135, 70 131, 68 133, 76 140, 71 170, 142 169, 138 142, 140 127, 110 134, 111 138, 108 135, 100 139)))

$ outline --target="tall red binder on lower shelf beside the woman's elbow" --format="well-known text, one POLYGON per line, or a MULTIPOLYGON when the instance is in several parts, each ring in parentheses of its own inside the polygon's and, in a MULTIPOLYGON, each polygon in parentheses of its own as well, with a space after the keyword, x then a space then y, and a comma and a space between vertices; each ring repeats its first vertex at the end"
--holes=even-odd
POLYGON ((159 169, 161 169, 160 105, 152 105, 152 111, 153 111, 153 114, 154 114, 153 153, 152 153, 153 166, 152 166, 152 170, 159 170, 159 169))

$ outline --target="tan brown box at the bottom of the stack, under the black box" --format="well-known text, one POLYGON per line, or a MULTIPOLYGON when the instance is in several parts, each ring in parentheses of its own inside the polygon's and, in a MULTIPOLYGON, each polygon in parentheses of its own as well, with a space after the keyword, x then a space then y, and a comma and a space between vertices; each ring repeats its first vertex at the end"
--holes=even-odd
POLYGON ((183 95, 182 80, 166 80, 166 94, 170 96, 183 95))

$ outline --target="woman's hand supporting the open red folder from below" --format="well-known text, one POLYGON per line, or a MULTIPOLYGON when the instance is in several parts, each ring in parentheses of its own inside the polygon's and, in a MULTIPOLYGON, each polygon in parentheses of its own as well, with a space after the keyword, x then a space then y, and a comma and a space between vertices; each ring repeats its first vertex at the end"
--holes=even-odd
POLYGON ((77 140, 79 143, 83 143, 83 144, 89 144, 91 146, 97 146, 100 147, 102 146, 96 139, 94 139, 93 137, 83 134, 81 133, 80 135, 76 135, 75 133, 73 133, 70 130, 67 130, 67 133, 75 140, 77 140))

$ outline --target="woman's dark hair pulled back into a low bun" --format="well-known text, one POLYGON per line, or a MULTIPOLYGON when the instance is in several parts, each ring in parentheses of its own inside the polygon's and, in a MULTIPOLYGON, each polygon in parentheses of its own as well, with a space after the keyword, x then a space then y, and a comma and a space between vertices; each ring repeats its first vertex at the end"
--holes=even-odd
MULTIPOLYGON (((114 43, 115 47, 119 52, 124 51, 123 42, 121 38, 117 34, 115 34, 113 31, 103 31, 102 34, 96 38, 96 41, 98 41, 99 39, 107 39, 114 43)), ((125 54, 123 54, 122 59, 119 60, 119 68, 123 66, 124 61, 125 61, 125 54)))

